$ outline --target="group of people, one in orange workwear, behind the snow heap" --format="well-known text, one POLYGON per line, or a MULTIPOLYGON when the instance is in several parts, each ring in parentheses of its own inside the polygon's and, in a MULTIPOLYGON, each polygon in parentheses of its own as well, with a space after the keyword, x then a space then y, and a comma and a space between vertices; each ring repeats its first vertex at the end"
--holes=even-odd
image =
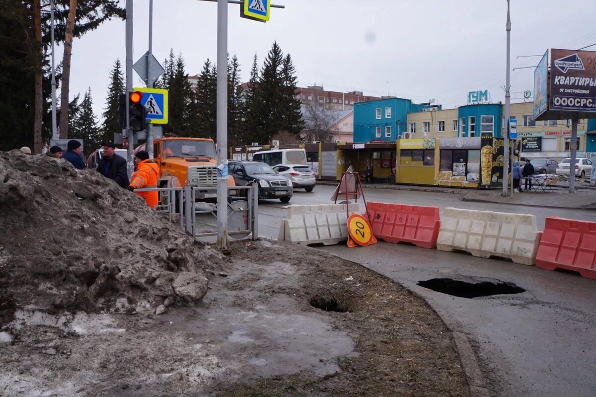
MULTIPOLYGON (((159 168, 156 163, 149 159, 149 153, 147 153, 147 151, 139 150, 135 154, 134 161, 136 170, 132 174, 132 181, 129 183, 128 172, 126 170, 126 159, 115 153, 116 145, 112 142, 104 142, 101 144, 101 148, 103 149, 104 155, 101 157, 96 168, 97 172, 101 173, 101 175, 112 179, 120 187, 133 192, 135 189, 157 187, 159 168)), ((21 151, 25 154, 31 154, 31 149, 26 146, 21 147, 21 151)), ((67 143, 66 152, 64 152, 60 146, 54 145, 49 148, 46 154, 50 157, 67 160, 76 169, 83 169, 86 167, 85 162, 81 157, 80 142, 75 139, 71 139, 67 143)), ((144 198, 147 205, 151 208, 157 207, 157 201, 159 200, 157 191, 137 191, 135 193, 144 198)))

